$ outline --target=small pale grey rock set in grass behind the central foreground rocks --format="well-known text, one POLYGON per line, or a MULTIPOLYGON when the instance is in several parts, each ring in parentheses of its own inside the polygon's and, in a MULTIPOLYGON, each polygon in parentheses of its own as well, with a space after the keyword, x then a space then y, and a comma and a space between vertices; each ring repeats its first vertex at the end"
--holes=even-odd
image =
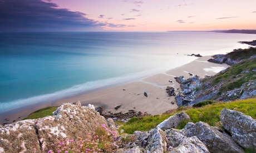
POLYGON ((168 119, 164 120, 162 123, 157 125, 162 130, 176 128, 181 121, 190 120, 190 117, 185 112, 174 114, 170 116, 168 119))

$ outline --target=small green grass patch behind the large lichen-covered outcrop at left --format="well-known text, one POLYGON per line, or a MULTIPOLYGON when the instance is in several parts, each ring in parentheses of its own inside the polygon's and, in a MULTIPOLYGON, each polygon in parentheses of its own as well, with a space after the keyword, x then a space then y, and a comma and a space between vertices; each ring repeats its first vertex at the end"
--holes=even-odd
POLYGON ((24 118, 23 120, 27 119, 38 119, 43 118, 45 116, 51 116, 52 112, 55 111, 59 106, 50 106, 47 108, 43 108, 37 111, 34 111, 33 113, 29 114, 27 118, 24 118))

